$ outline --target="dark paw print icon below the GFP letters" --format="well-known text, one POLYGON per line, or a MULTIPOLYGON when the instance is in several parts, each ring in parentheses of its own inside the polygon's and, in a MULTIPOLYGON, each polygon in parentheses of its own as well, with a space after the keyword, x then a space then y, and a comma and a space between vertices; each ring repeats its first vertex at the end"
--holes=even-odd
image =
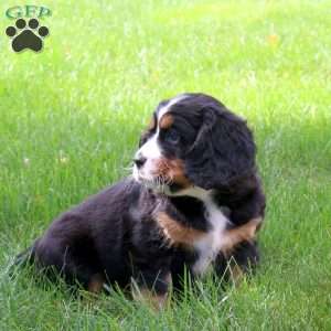
POLYGON ((46 26, 40 26, 36 19, 18 19, 15 26, 8 26, 6 34, 12 39, 11 46, 14 52, 21 52, 29 49, 40 52, 43 47, 43 39, 50 34, 46 26))

